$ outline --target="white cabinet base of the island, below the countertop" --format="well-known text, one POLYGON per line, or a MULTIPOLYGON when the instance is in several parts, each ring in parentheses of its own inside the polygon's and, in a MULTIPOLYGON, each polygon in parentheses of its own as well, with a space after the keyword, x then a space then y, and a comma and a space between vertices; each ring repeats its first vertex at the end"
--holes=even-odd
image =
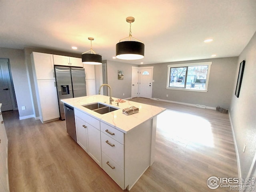
POLYGON ((154 162, 156 117, 124 134, 74 109, 78 144, 120 186, 130 190, 154 162))

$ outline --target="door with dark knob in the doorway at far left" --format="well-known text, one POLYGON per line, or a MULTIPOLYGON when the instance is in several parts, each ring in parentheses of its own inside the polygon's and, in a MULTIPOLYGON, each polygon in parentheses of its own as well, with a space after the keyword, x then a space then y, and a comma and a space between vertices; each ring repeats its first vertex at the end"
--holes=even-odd
POLYGON ((13 110, 10 96, 10 74, 8 68, 8 59, 0 59, 0 103, 2 111, 13 110))

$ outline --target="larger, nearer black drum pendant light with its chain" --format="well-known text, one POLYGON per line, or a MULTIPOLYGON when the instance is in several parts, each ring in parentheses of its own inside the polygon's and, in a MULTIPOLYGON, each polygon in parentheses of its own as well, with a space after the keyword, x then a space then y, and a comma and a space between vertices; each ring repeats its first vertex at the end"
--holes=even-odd
POLYGON ((136 38, 132 37, 131 26, 134 22, 133 17, 127 17, 126 22, 130 23, 129 36, 123 38, 116 44, 116 58, 125 60, 136 60, 144 58, 144 43, 136 38), (128 41, 122 41, 128 39, 128 41), (136 41, 132 41, 134 39, 136 41))

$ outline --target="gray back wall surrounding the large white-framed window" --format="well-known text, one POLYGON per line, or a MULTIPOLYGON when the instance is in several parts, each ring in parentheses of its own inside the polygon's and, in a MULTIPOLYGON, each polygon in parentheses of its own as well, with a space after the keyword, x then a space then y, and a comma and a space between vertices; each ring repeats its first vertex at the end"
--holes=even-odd
POLYGON ((216 58, 143 66, 154 66, 152 98, 159 98, 162 100, 170 100, 188 104, 200 104, 208 107, 221 106, 222 108, 230 108, 236 74, 237 59, 237 57, 216 58), (208 83, 208 92, 166 89, 167 65, 208 61, 212 62, 208 83), (166 97, 166 94, 168 94, 168 97, 166 97))

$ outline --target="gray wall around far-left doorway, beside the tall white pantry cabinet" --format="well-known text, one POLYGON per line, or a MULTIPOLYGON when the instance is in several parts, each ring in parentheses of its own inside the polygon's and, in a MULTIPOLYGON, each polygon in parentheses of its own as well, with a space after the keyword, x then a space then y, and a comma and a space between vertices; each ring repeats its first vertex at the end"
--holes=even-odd
POLYGON ((33 115, 24 51, 20 49, 0 48, 0 58, 8 58, 10 60, 10 70, 20 117, 33 115), (26 110, 22 110, 22 106, 26 106, 26 110))

